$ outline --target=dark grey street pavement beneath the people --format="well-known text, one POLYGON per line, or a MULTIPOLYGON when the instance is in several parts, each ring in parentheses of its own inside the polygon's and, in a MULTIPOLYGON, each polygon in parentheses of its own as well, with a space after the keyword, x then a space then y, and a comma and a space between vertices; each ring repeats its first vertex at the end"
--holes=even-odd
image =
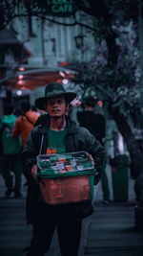
MULTIPOLYGON (((111 203, 103 204, 101 184, 94 186, 94 213, 83 221, 79 256, 143 256, 143 230, 135 228, 133 179, 129 176, 129 198, 114 202, 112 171, 107 166, 111 203)), ((23 198, 5 198, 5 185, 0 175, 0 256, 25 256, 30 246, 31 225, 26 224, 25 177, 22 177, 23 198)), ((60 256, 57 233, 46 256, 60 256)), ((68 256, 68 255, 67 255, 68 256)))

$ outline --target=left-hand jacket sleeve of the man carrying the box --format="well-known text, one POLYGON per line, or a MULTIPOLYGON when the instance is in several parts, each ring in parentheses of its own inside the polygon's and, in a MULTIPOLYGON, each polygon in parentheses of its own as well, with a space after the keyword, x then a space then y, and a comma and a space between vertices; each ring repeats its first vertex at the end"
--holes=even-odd
MULTIPOLYGON (((38 155, 38 143, 35 141, 36 133, 31 130, 30 136, 24 146, 21 155, 22 166, 24 170, 24 175, 26 177, 31 176, 31 168, 36 164, 36 156, 38 155)), ((38 137, 37 137, 38 140, 38 137)))

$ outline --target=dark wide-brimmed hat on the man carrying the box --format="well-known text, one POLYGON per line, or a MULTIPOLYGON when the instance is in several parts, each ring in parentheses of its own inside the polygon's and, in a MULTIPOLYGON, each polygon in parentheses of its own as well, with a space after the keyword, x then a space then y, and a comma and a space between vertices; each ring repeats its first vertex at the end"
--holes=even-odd
POLYGON ((66 92, 64 86, 60 82, 51 82, 45 88, 45 97, 41 97, 35 100, 35 106, 38 109, 45 110, 45 105, 47 100, 57 97, 64 96, 65 99, 71 103, 74 98, 76 98, 76 93, 66 92))

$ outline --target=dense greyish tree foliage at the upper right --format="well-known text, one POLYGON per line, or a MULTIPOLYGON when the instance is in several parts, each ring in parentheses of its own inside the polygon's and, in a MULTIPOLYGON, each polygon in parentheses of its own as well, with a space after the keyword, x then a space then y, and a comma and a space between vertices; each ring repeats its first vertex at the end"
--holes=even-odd
MULTIPOLYGON (((128 27, 116 27, 120 36, 116 39, 118 59, 114 66, 108 65, 108 50, 105 42, 96 44, 94 57, 90 63, 76 63, 74 82, 82 84, 84 93, 89 88, 108 107, 118 109, 118 113, 131 115, 142 97, 140 87, 139 55, 133 23, 128 27), (126 40, 123 40, 126 33, 126 40), (79 68, 78 68, 79 67, 79 68)), ((74 63, 71 63, 75 67, 74 63)))

